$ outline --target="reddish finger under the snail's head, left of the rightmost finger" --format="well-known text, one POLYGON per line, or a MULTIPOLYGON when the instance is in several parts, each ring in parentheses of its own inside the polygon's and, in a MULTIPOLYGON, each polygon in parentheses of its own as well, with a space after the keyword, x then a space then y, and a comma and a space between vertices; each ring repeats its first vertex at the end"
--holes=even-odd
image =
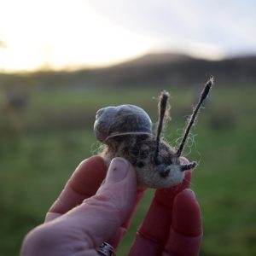
POLYGON ((183 183, 170 189, 157 189, 154 200, 137 237, 131 255, 159 255, 168 239, 172 224, 172 205, 175 196, 189 187, 191 172, 186 172, 183 183))

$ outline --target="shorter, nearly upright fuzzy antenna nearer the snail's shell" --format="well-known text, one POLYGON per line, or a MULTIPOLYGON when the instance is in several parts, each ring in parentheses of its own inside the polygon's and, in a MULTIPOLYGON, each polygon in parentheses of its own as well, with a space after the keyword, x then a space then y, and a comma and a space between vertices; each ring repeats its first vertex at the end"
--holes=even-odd
POLYGON ((163 124, 165 116, 169 117, 169 93, 166 90, 163 90, 160 94, 160 100, 158 103, 158 111, 159 111, 159 119, 158 119, 158 125, 157 125, 157 133, 156 133, 156 148, 154 151, 154 162, 158 163, 158 154, 159 154, 159 145, 160 145, 160 134, 163 130, 163 124), (167 110, 167 111, 166 111, 167 110))

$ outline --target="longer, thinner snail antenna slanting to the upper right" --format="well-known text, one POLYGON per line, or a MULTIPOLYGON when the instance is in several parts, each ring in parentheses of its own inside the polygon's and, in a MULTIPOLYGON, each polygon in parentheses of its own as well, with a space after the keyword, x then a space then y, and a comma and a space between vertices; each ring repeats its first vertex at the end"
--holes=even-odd
POLYGON ((201 108, 202 102, 204 102, 204 100, 207 98, 209 91, 211 90, 211 88, 213 86, 213 81, 214 81, 214 79, 211 76, 210 79, 207 81, 207 84, 205 85, 204 89, 201 92, 200 100, 197 103, 197 105, 195 106, 195 108, 193 109, 193 113, 191 114, 191 116, 189 118, 189 124, 187 125, 187 127, 185 129, 182 142, 180 143, 179 147, 177 148, 177 152, 176 152, 177 157, 180 157, 181 154, 183 153, 183 148, 184 148, 186 140, 189 136, 189 131, 190 131, 192 125, 195 123, 195 118, 196 118, 196 115, 197 115, 199 109, 201 108))

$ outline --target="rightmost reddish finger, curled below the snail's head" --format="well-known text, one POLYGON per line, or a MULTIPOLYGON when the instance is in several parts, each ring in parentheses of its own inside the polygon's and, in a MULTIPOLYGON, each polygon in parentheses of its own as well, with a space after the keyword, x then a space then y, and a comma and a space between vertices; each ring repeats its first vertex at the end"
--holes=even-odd
POLYGON ((163 256, 196 256, 201 247, 201 211, 193 191, 179 193, 173 203, 172 227, 163 256))

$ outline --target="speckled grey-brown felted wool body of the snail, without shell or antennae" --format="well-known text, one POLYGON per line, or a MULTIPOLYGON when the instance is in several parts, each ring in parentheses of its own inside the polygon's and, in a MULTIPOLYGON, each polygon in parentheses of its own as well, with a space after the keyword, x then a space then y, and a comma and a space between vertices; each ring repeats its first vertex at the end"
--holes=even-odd
POLYGON ((156 137, 153 135, 121 135, 106 142, 102 157, 109 165, 114 157, 130 161, 137 172, 137 183, 143 187, 160 189, 182 183, 184 172, 175 150, 160 140, 159 157, 155 162, 156 137))

